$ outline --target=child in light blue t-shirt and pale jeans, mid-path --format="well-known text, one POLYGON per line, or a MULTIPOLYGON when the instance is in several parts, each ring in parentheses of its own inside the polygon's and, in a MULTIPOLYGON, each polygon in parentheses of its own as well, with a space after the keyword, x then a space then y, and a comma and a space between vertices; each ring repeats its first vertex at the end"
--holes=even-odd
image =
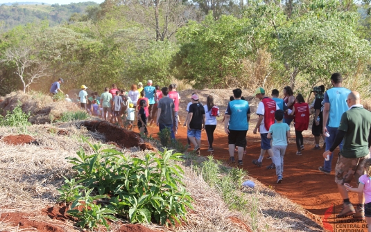
POLYGON ((276 166, 277 184, 282 182, 284 178, 284 154, 287 148, 287 139, 290 138, 290 127, 283 123, 284 111, 278 109, 275 111, 275 120, 277 123, 269 127, 268 139, 273 139, 273 163, 276 166))

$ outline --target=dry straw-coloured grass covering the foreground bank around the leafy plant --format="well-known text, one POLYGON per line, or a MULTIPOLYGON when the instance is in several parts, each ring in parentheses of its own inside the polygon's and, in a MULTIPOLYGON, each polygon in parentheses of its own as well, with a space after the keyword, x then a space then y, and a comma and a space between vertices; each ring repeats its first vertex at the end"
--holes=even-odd
MULTIPOLYGON (((91 153, 84 139, 92 143, 104 139, 85 127, 78 130, 68 123, 33 125, 27 131, 40 145, 6 145, 0 141, 0 191, 3 193, 0 195, 0 213, 37 212, 55 204, 56 189, 63 183, 62 176, 73 175, 71 164, 65 157, 76 156, 79 148, 91 153), (55 132, 61 128, 68 130, 69 135, 58 136, 55 132)), ((17 129, 0 127, 0 136, 8 134, 18 134, 17 129)), ((144 154, 135 152, 138 157, 144 157, 144 154)), ((302 207, 252 178, 249 179, 257 184, 254 189, 244 188, 236 193, 247 199, 246 210, 252 213, 231 211, 221 195, 184 164, 180 163, 185 171, 184 184, 195 199, 187 223, 176 229, 157 225, 148 227, 164 231, 246 231, 246 225, 252 228, 252 222, 257 222, 255 231, 320 231, 319 226, 305 216, 307 211, 302 207), (239 222, 233 222, 231 217, 238 218, 239 222)), ((66 231, 76 231, 72 222, 51 220, 42 215, 33 220, 62 223, 66 231)), ((0 230, 15 231, 15 227, 4 221, 0 223, 0 230)), ((119 226, 113 224, 111 231, 118 230, 119 226)))

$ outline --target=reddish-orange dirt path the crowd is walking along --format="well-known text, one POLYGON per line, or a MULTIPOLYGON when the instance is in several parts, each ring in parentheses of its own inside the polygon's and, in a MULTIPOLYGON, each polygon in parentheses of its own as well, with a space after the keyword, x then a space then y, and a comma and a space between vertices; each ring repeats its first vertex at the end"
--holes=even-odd
MULTIPOLYGON (((155 135, 158 132, 157 127, 148 127, 149 134, 155 135)), ((293 134, 293 133, 291 133, 293 134)), ((293 135, 291 135, 293 136, 293 135)), ((179 127, 178 134, 175 135, 176 139, 185 144, 187 143, 187 129, 186 127, 179 127)), ((295 136, 294 136, 295 137, 295 136)), ((201 155, 210 155, 206 152, 208 143, 206 133, 202 132, 201 138, 201 155)), ((296 145, 295 139, 291 138, 284 157, 284 181, 282 184, 276 184, 277 177, 275 170, 267 170, 271 161, 264 159, 261 168, 252 164, 252 159, 259 158, 260 154, 260 136, 248 132, 248 149, 247 154, 243 157, 243 169, 248 171, 251 177, 272 186, 275 191, 281 195, 288 197, 293 202, 300 204, 309 212, 320 216, 323 226, 329 231, 340 231, 341 229, 358 229, 359 232, 366 232, 365 221, 352 220, 352 216, 341 218, 337 215, 340 211, 342 199, 338 193, 337 186, 334 182, 334 171, 331 175, 325 175, 318 170, 319 166, 323 165, 322 153, 324 150, 311 150, 313 148, 313 137, 304 137, 305 150, 302 156, 295 154, 296 145), (335 213, 334 213, 335 212, 335 213), (348 223, 343 223, 348 220, 348 223), (340 229, 340 230, 339 230, 340 229)), ((214 132, 214 152, 213 155, 216 159, 227 162, 229 154, 227 151, 227 135, 221 130, 214 132)), ((193 146, 192 146, 193 149, 193 146)), ((332 170, 336 165, 336 156, 338 150, 335 151, 335 159, 332 162, 332 170)), ((268 157, 268 153, 266 154, 268 157)), ((351 186, 356 186, 355 181, 352 181, 351 186)), ((350 201, 353 204, 358 202, 358 195, 350 193, 350 201)))

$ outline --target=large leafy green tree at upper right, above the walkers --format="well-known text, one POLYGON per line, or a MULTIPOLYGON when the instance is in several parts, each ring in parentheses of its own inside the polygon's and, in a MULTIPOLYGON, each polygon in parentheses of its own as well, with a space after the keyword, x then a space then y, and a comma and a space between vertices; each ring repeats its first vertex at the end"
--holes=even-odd
POLYGON ((291 70, 292 85, 299 73, 313 86, 334 72, 352 76, 364 71, 371 49, 356 35, 357 21, 352 12, 309 12, 279 28, 275 56, 291 70))

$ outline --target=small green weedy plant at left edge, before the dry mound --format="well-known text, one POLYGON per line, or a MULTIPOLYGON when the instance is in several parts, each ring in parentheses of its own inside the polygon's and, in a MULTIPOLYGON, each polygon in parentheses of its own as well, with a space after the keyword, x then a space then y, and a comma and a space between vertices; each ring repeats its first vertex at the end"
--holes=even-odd
POLYGON ((18 104, 12 112, 6 111, 6 116, 0 118, 0 126, 26 127, 27 125, 31 125, 31 123, 28 122, 31 113, 24 113, 21 105, 21 102, 18 100, 18 104))

